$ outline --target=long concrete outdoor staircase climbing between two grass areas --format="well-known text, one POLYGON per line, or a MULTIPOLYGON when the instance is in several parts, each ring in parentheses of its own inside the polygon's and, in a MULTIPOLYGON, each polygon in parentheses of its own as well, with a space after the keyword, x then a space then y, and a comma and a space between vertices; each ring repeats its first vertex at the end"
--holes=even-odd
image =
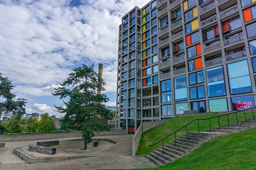
MULTIPOLYGON (((176 143, 175 140, 172 140, 172 142, 164 144, 160 148, 157 148, 157 150, 153 150, 153 152, 151 152, 151 161, 159 166, 163 166, 188 155, 193 150, 201 147, 205 142, 209 142, 214 138, 239 133, 252 128, 256 128, 256 118, 255 121, 253 119, 247 119, 246 122, 241 121, 238 125, 231 123, 229 126, 221 125, 220 127, 212 127, 211 132, 209 129, 205 129, 200 133, 188 132, 188 135, 183 134, 177 137, 176 143)), ((145 155, 145 157, 149 159, 150 153, 145 155)))

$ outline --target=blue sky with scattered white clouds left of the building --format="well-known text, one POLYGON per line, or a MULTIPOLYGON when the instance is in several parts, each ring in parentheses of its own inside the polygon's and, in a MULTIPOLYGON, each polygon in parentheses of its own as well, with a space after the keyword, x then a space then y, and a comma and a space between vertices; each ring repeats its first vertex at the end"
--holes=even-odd
POLYGON ((27 113, 64 116, 54 88, 73 68, 102 63, 108 106, 116 105, 118 29, 145 0, 0 0, 0 72, 27 99, 27 113))

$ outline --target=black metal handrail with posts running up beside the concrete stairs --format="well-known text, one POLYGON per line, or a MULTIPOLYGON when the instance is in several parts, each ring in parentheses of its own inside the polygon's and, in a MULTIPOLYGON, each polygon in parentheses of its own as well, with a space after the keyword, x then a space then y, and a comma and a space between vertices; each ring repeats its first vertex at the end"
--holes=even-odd
MULTIPOLYGON (((158 141, 158 142, 156 142, 156 143, 154 143, 154 144, 148 145, 148 146, 150 147, 150 148, 149 148, 149 150, 150 150, 150 153, 149 153, 149 160, 151 161, 151 146, 154 146, 154 145, 158 144, 159 142, 163 141, 164 139, 168 138, 169 136, 172 136, 173 134, 174 134, 174 138, 175 138, 175 147, 176 147, 176 133, 177 133, 179 130, 183 129, 184 127, 186 127, 186 138, 188 139, 188 130, 187 130, 187 126, 188 126, 189 124, 191 124, 192 122, 198 121, 198 133, 200 133, 200 130, 199 130, 199 120, 208 120, 208 119, 209 119, 210 132, 212 132, 212 130, 211 130, 211 119, 214 119, 214 118, 217 118, 217 117, 218 117, 218 125, 219 125, 219 129, 221 129, 220 117, 221 117, 221 116, 227 116, 227 124, 228 124, 228 127, 230 127, 228 115, 236 113, 236 125, 238 125, 237 113, 239 113, 239 112, 244 112, 244 120, 245 120, 245 122, 247 122, 247 121, 246 121, 246 114, 245 114, 245 111, 248 111, 248 110, 252 110, 252 111, 253 111, 253 109, 255 109, 255 108, 256 108, 256 107, 254 107, 254 108, 249 108, 249 109, 244 109, 244 110, 241 110, 241 111, 235 111, 235 112, 227 113, 227 114, 224 114, 224 115, 209 117, 209 118, 207 118, 207 119, 194 119, 194 120, 192 120, 191 122, 189 122, 188 124, 184 125, 183 127, 180 127, 180 128, 179 128, 178 130, 176 130, 175 132, 173 132, 173 133, 169 134, 168 136, 164 137, 164 138, 161 139, 160 141, 158 141)), ((253 113, 253 120, 255 120, 255 118, 254 118, 254 113, 253 113)), ((163 142, 162 142, 162 143, 163 143, 163 142)), ((164 144, 163 144, 163 146, 164 146, 164 144)))

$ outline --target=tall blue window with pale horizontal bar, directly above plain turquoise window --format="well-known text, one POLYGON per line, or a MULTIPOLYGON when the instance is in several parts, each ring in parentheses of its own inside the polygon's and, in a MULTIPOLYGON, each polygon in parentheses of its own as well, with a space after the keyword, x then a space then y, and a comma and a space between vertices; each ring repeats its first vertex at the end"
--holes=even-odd
POLYGON ((206 70, 208 97, 226 95, 222 65, 206 70))

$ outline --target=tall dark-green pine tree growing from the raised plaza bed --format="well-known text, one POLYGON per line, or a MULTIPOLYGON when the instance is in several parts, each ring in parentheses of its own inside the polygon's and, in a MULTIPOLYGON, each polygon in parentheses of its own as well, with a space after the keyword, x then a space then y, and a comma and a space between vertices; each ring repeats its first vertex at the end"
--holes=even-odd
POLYGON ((108 102, 108 97, 105 94, 96 94, 97 89, 105 90, 105 82, 93 70, 93 65, 88 67, 83 64, 73 71, 67 80, 60 84, 61 87, 55 89, 53 95, 60 96, 60 99, 69 98, 69 101, 64 102, 65 106, 55 106, 58 112, 65 114, 61 127, 81 131, 86 149, 86 144, 91 142, 94 136, 93 130, 110 130, 103 119, 111 120, 114 115, 102 104, 108 102))

